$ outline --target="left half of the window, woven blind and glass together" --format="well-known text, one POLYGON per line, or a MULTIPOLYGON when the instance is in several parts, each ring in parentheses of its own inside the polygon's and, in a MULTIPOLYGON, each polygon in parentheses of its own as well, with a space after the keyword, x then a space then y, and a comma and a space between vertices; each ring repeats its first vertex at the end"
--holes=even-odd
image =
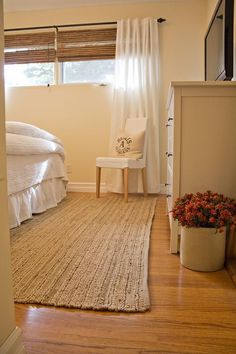
POLYGON ((5 85, 54 83, 55 33, 5 35, 5 85))

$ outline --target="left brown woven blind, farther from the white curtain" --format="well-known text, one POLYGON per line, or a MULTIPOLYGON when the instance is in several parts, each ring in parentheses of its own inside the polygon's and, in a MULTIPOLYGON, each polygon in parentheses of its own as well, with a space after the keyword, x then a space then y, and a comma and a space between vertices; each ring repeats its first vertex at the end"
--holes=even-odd
POLYGON ((5 34, 5 63, 54 62, 55 32, 5 34))

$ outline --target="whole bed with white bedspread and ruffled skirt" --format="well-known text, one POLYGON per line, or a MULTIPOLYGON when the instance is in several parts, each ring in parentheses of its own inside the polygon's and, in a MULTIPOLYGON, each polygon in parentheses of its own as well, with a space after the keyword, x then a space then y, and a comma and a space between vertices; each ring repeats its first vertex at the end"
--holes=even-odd
POLYGON ((36 126, 6 122, 9 226, 57 206, 66 196, 62 142, 36 126))

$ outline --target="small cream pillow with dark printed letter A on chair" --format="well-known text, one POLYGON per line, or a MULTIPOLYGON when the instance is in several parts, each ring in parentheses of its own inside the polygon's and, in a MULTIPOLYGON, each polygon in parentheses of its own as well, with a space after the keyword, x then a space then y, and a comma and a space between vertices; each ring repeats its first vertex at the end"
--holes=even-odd
POLYGON ((115 140, 114 155, 141 159, 143 157, 145 132, 136 134, 120 133, 115 140))

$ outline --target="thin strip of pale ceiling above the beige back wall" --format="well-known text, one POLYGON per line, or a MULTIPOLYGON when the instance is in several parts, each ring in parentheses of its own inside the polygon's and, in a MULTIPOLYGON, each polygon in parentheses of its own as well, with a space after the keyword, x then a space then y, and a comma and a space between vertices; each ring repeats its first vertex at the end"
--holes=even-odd
POLYGON ((65 7, 73 8, 84 5, 104 5, 159 1, 167 0, 4 0, 4 12, 56 9, 65 7))

